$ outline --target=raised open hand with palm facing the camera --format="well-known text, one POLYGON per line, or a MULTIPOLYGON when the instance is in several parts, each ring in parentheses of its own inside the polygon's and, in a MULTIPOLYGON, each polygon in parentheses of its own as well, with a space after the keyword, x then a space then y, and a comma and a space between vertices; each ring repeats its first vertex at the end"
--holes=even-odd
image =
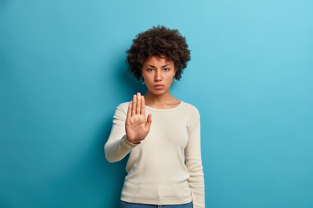
POLYGON ((144 97, 138 92, 129 102, 125 122, 127 140, 132 144, 139 144, 150 131, 151 114, 145 120, 144 97))

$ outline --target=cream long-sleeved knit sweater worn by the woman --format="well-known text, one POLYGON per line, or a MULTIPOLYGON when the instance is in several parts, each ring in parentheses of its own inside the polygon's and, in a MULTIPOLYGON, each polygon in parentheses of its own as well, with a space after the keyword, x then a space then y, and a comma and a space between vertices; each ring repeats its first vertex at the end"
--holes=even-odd
POLYGON ((171 109, 145 106, 152 114, 150 131, 140 144, 128 142, 125 120, 128 102, 116 107, 109 138, 104 145, 107 161, 128 153, 121 200, 151 205, 186 204, 204 208, 204 178, 200 151, 200 115, 185 102, 171 109))

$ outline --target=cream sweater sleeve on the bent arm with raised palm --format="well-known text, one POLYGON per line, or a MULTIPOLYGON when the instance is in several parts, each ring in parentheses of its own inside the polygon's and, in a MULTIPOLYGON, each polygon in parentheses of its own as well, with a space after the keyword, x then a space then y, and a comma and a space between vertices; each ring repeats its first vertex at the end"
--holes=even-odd
POLYGON ((125 132, 126 112, 121 107, 127 105, 122 103, 116 107, 111 133, 104 145, 105 158, 108 162, 116 162, 123 159, 137 145, 128 142, 125 132))

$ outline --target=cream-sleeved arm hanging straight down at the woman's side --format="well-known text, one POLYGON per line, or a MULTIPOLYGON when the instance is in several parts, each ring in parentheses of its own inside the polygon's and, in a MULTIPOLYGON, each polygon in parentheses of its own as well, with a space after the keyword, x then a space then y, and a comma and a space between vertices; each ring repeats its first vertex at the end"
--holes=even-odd
POLYGON ((185 162, 189 171, 188 179, 193 208, 205 208, 204 177, 200 148, 200 117, 188 127, 188 144, 185 148, 185 162))

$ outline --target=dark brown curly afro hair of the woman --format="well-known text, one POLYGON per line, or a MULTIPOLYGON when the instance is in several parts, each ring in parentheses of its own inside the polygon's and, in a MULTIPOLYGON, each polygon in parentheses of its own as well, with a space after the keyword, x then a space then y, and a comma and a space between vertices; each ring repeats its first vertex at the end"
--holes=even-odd
POLYGON ((138 80, 141 77, 143 62, 153 55, 165 57, 174 62, 177 80, 181 78, 183 69, 190 60, 190 50, 185 37, 181 36, 177 29, 160 25, 138 33, 126 53, 125 62, 128 65, 128 71, 138 80))

